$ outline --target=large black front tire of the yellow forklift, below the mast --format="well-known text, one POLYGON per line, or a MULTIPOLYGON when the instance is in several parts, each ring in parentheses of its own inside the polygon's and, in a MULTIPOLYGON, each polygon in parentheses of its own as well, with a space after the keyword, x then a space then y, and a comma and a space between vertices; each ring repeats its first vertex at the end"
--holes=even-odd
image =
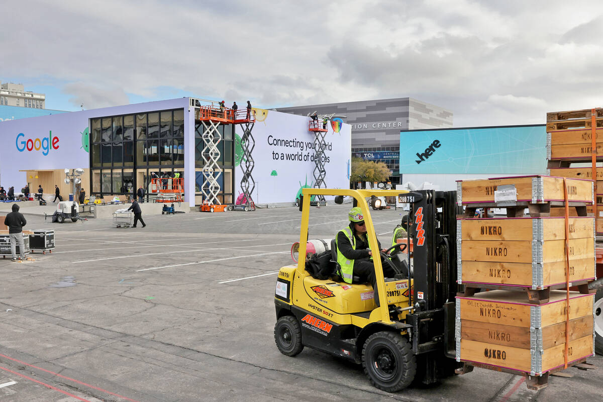
POLYGON ((372 334, 362 348, 362 367, 371 384, 385 392, 397 392, 411 385, 417 372, 417 358, 408 340, 399 333, 372 334))

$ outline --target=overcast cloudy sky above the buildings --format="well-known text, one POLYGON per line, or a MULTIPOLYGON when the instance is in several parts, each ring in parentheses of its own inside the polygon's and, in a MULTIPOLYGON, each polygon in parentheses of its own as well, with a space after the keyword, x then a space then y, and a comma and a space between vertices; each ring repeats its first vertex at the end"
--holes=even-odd
POLYGON ((0 80, 78 110, 411 96, 454 125, 603 106, 597 1, 5 1, 0 80))

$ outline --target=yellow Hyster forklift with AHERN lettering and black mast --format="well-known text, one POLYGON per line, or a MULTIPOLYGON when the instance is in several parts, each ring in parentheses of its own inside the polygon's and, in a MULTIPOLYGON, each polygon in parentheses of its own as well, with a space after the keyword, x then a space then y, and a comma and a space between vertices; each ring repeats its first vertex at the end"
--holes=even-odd
POLYGON ((274 294, 279 351, 295 356, 310 347, 362 363, 370 382, 387 392, 454 374, 460 366, 455 360, 456 192, 303 189, 300 211, 299 260, 280 269, 274 294), (332 275, 321 280, 306 271, 314 195, 335 196, 336 204, 349 196, 361 208, 372 254, 381 256, 374 258, 380 307, 370 284, 356 278, 346 283, 338 275, 334 240, 332 275), (397 196, 411 205, 406 243, 379 250, 367 204, 371 196, 397 196), (403 252, 411 242, 412 264, 411 253, 403 252), (382 263, 394 268, 394 278, 384 278, 382 263))

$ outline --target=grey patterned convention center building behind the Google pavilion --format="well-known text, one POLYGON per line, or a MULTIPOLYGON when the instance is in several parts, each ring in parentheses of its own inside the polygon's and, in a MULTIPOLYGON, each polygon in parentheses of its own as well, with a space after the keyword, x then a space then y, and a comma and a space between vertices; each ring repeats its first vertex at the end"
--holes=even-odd
POLYGON ((377 99, 321 105, 279 107, 293 115, 318 115, 341 118, 352 125, 352 156, 384 162, 397 183, 400 131, 421 128, 451 128, 452 111, 412 98, 377 99))

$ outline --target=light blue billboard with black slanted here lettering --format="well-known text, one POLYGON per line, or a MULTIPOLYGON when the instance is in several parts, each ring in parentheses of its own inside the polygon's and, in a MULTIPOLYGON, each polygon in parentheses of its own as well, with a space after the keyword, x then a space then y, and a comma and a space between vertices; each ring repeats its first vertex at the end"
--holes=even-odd
POLYGON ((546 127, 400 132, 400 174, 545 174, 546 127))

